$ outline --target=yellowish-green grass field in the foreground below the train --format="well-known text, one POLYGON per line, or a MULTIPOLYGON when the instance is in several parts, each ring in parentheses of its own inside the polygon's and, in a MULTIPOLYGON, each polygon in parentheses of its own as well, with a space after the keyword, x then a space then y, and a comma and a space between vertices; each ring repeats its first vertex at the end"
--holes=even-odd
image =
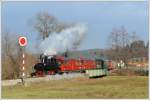
POLYGON ((107 76, 5 86, 2 98, 148 98, 148 77, 107 76))

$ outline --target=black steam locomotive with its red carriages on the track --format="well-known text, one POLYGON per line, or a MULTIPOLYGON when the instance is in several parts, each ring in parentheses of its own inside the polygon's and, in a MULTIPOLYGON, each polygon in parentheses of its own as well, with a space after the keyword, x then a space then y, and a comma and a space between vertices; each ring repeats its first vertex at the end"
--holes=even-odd
POLYGON ((108 75, 112 69, 111 63, 101 58, 68 58, 58 55, 40 55, 40 61, 33 67, 31 77, 42 77, 64 73, 79 72, 88 77, 99 77, 108 75))

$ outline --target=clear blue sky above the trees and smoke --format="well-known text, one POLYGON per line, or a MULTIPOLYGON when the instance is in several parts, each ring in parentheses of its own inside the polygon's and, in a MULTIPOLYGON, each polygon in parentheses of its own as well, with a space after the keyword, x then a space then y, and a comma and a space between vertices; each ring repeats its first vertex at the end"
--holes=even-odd
POLYGON ((148 41, 148 2, 3 2, 2 30, 24 35, 31 49, 37 38, 30 20, 39 12, 48 12, 64 23, 84 23, 88 31, 78 48, 107 48, 113 28, 124 26, 148 41))

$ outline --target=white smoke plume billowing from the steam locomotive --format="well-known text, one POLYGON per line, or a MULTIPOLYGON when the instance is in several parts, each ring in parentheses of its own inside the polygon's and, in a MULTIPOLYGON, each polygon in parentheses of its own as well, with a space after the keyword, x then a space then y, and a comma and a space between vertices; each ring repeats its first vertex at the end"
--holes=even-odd
POLYGON ((40 44, 42 53, 46 55, 55 55, 58 52, 77 49, 86 33, 84 24, 76 24, 60 33, 52 33, 40 44))

